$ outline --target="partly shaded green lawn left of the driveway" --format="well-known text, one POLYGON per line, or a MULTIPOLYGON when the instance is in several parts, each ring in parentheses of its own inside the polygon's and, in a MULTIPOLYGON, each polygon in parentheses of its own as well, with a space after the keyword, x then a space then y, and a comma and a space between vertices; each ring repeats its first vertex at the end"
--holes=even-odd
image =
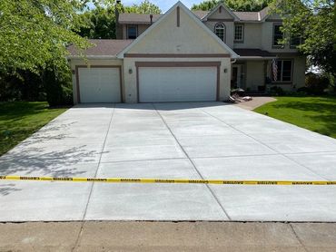
POLYGON ((0 156, 64 111, 47 102, 0 102, 0 156))

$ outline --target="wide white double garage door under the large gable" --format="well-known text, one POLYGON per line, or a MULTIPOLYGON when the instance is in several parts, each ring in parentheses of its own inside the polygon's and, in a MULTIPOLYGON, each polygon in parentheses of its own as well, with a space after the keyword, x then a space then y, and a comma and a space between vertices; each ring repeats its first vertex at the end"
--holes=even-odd
POLYGON ((140 67, 139 102, 216 101, 216 67, 140 67))

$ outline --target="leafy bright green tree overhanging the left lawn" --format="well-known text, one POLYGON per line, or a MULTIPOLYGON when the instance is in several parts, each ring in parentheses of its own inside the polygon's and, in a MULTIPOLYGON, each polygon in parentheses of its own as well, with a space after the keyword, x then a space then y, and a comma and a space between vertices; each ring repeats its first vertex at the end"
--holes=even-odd
POLYGON ((1 0, 0 72, 35 73, 49 64, 65 66, 66 45, 89 46, 74 31, 83 25, 83 0, 1 0))

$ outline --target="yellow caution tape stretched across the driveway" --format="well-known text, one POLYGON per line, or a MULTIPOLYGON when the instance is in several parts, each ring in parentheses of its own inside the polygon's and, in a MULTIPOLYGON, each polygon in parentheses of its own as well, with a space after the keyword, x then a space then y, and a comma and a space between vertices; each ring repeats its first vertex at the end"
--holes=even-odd
POLYGON ((71 181, 103 183, 168 183, 168 184, 216 184, 216 185, 280 185, 280 186, 330 186, 336 181, 286 181, 286 180, 222 180, 222 179, 126 179, 126 178, 60 178, 60 177, 25 177, 0 176, 0 180, 34 181, 71 181))

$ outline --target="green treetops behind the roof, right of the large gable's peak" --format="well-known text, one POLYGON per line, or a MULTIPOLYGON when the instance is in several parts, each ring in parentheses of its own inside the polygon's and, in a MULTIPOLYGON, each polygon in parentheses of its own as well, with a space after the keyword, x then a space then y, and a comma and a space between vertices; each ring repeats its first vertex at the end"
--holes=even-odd
POLYGON ((210 11, 219 3, 223 3, 232 11, 257 12, 271 2, 272 0, 205 0, 199 5, 193 5, 192 10, 210 11))

